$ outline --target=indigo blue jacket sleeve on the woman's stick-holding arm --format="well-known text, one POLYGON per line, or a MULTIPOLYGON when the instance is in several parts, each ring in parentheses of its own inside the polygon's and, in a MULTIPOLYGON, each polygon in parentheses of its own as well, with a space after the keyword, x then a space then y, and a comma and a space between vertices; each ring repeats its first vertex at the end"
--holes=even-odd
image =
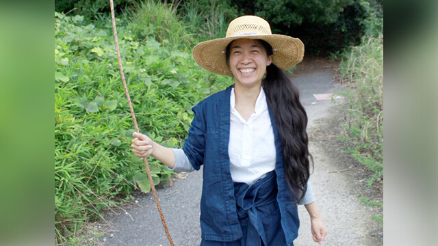
POLYGON ((184 141, 183 151, 192 163, 194 169, 199 170, 204 163, 205 153, 205 115, 203 103, 192 108, 194 118, 189 128, 189 135, 184 141))

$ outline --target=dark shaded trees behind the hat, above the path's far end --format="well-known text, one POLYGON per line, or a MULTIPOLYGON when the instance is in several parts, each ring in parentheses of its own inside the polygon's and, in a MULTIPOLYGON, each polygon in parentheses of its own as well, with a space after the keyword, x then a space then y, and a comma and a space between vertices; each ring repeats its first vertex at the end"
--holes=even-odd
POLYGON ((327 55, 359 44, 368 12, 365 0, 238 0, 239 14, 268 20, 274 33, 300 38, 306 53, 327 55))

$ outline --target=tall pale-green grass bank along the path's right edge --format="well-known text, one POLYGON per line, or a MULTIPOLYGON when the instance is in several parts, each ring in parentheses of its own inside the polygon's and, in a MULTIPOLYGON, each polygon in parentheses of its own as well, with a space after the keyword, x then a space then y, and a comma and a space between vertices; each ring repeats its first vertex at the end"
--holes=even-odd
POLYGON ((365 36, 360 46, 343 53, 340 72, 348 83, 342 139, 351 143, 347 151, 374 172, 371 185, 383 179, 383 37, 365 36))

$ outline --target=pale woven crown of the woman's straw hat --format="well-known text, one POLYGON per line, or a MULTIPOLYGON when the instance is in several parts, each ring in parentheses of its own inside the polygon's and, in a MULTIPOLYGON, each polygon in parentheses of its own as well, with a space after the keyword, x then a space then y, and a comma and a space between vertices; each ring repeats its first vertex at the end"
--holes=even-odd
POLYGON ((228 25, 226 38, 236 36, 271 35, 268 21, 259 16, 241 16, 228 25))

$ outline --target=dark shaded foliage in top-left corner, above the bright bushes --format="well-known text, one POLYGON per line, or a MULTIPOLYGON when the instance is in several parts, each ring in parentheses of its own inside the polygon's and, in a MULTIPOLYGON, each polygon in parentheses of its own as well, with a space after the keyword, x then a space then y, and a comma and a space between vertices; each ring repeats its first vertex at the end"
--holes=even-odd
MULTIPOLYGON (((131 8, 138 0, 114 0, 114 10, 118 13, 131 8)), ((71 12, 84 16, 87 20, 110 14, 109 0, 55 0, 56 12, 71 12)))

